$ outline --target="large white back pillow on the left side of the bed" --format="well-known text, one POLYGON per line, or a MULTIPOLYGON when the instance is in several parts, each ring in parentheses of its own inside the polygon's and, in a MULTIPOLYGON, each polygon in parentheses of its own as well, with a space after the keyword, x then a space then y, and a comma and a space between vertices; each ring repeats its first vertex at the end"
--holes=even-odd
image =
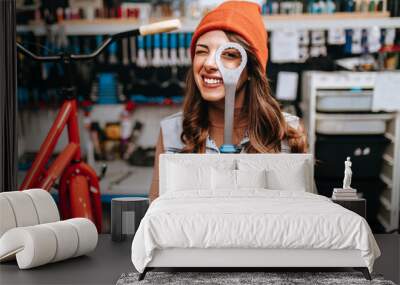
POLYGON ((169 163, 167 191, 211 189, 211 167, 169 163))

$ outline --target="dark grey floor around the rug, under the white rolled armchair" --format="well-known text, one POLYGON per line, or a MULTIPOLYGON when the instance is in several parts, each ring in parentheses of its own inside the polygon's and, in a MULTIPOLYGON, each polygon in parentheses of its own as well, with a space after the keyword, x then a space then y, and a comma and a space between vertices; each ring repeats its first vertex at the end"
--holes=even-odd
MULTIPOLYGON (((385 279, 400 283, 400 235, 375 236, 382 256, 374 272, 385 279)), ((130 258, 131 240, 111 241, 100 235, 94 252, 42 267, 19 270, 16 262, 0 265, 0 284, 115 284, 124 272, 134 271, 130 258)))

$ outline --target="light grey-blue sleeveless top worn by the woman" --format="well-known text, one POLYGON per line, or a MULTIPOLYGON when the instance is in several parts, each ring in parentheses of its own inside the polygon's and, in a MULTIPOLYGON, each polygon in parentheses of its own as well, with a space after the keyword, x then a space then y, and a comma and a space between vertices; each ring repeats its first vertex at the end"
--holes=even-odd
MULTIPOLYGON (((297 129, 299 127, 299 118, 288 113, 283 113, 286 122, 292 127, 297 129)), ((161 121, 161 132, 163 136, 164 152, 165 153, 177 153, 180 152, 184 144, 181 141, 182 134, 182 112, 175 113, 171 116, 164 118, 161 121)), ((249 138, 245 136, 240 142, 242 152, 244 152, 244 145, 249 142, 249 138)), ((206 153, 219 153, 219 149, 215 142, 208 137, 206 141, 206 153)), ((290 153, 290 147, 287 141, 281 142, 281 152, 290 153)))

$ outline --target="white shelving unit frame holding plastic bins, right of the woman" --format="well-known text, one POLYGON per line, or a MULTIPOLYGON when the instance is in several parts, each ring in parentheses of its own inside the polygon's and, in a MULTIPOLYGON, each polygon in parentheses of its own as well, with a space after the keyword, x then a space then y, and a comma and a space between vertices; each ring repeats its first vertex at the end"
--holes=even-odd
POLYGON ((399 226, 400 208, 400 112, 366 114, 321 114, 317 111, 317 99, 320 90, 373 90, 376 72, 318 72, 303 73, 301 108, 308 132, 310 152, 315 154, 317 123, 324 119, 349 119, 351 116, 385 121, 385 137, 390 140, 383 155, 380 173, 386 189, 380 196, 378 220, 391 231, 399 226))

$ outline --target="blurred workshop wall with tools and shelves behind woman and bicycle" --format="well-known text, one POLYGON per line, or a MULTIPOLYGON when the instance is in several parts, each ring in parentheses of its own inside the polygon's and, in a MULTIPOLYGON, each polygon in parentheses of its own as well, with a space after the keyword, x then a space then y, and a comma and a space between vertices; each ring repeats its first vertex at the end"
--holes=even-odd
MULTIPOLYGON (((178 32, 123 39, 73 66, 84 157, 98 172, 108 167, 101 180, 104 232, 112 198, 147 196, 160 120, 181 109, 192 33, 221 2, 17 1, 17 41, 42 55, 87 54, 107 35, 182 20, 178 32)), ((318 192, 330 197, 341 187, 343 161, 351 156, 352 186, 367 199, 372 230, 398 228, 400 2, 256 2, 269 34, 267 76, 282 108, 304 119, 318 192)), ((20 184, 63 101, 64 70, 18 54, 17 74, 20 184)), ((64 133, 54 157, 66 143, 64 133)), ((56 188, 51 193, 56 197, 56 188)))

